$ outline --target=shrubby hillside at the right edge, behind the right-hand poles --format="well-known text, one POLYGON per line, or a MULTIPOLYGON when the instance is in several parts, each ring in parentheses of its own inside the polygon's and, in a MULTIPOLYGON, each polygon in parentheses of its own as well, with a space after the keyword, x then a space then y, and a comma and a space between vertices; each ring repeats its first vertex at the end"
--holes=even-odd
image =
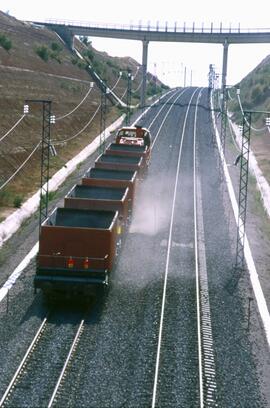
MULTIPOLYGON (((270 134, 265 127, 265 118, 270 116, 270 55, 252 70, 235 87, 240 88, 243 110, 269 112, 252 114, 252 127, 262 131, 251 132, 251 146, 260 168, 270 183, 270 134)), ((233 120, 242 124, 242 114, 235 89, 230 90, 228 108, 233 112, 233 120)))

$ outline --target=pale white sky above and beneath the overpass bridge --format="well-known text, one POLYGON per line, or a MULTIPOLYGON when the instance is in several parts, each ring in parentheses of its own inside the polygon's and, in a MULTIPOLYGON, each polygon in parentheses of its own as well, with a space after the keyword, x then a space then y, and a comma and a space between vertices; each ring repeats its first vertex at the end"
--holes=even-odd
MULTIPOLYGON (((124 0, 77 2, 63 0, 0 0, 0 9, 21 20, 72 20, 99 24, 160 27, 265 28, 270 32, 269 0, 124 0), (64 6, 63 6, 64 4, 64 6)), ((0 27, 1 29, 1 27, 0 27)), ((142 62, 142 43, 132 40, 91 38, 92 45, 112 56, 130 56, 142 62)), ((230 45, 227 84, 235 85, 270 54, 270 44, 230 45)), ((165 84, 207 86, 209 64, 222 71, 222 45, 150 42, 148 71, 165 84)))

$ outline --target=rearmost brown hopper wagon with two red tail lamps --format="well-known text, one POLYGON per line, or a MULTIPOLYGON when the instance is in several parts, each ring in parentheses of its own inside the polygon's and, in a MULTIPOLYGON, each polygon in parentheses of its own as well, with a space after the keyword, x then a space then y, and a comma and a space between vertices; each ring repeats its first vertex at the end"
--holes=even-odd
POLYGON ((57 208, 41 227, 35 288, 87 294, 108 283, 117 246, 117 211, 57 208))

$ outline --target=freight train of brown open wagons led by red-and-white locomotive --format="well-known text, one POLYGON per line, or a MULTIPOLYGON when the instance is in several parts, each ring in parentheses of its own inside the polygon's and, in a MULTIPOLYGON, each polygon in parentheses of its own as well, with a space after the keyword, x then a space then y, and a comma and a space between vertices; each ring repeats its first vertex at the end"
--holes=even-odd
POLYGON ((42 224, 35 290, 47 297, 84 297, 96 287, 108 287, 150 157, 148 129, 118 131, 115 142, 64 198, 64 206, 42 224))

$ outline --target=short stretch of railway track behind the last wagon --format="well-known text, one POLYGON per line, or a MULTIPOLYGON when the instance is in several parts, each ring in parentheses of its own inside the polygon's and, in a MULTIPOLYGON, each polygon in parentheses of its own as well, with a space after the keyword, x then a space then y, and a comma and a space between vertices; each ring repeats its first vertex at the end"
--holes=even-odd
POLYGON ((21 406, 22 401, 29 407, 52 407, 57 401, 85 320, 75 324, 75 335, 74 324, 67 329, 68 324, 57 327, 50 321, 48 316, 43 319, 0 400, 0 407, 21 406))

